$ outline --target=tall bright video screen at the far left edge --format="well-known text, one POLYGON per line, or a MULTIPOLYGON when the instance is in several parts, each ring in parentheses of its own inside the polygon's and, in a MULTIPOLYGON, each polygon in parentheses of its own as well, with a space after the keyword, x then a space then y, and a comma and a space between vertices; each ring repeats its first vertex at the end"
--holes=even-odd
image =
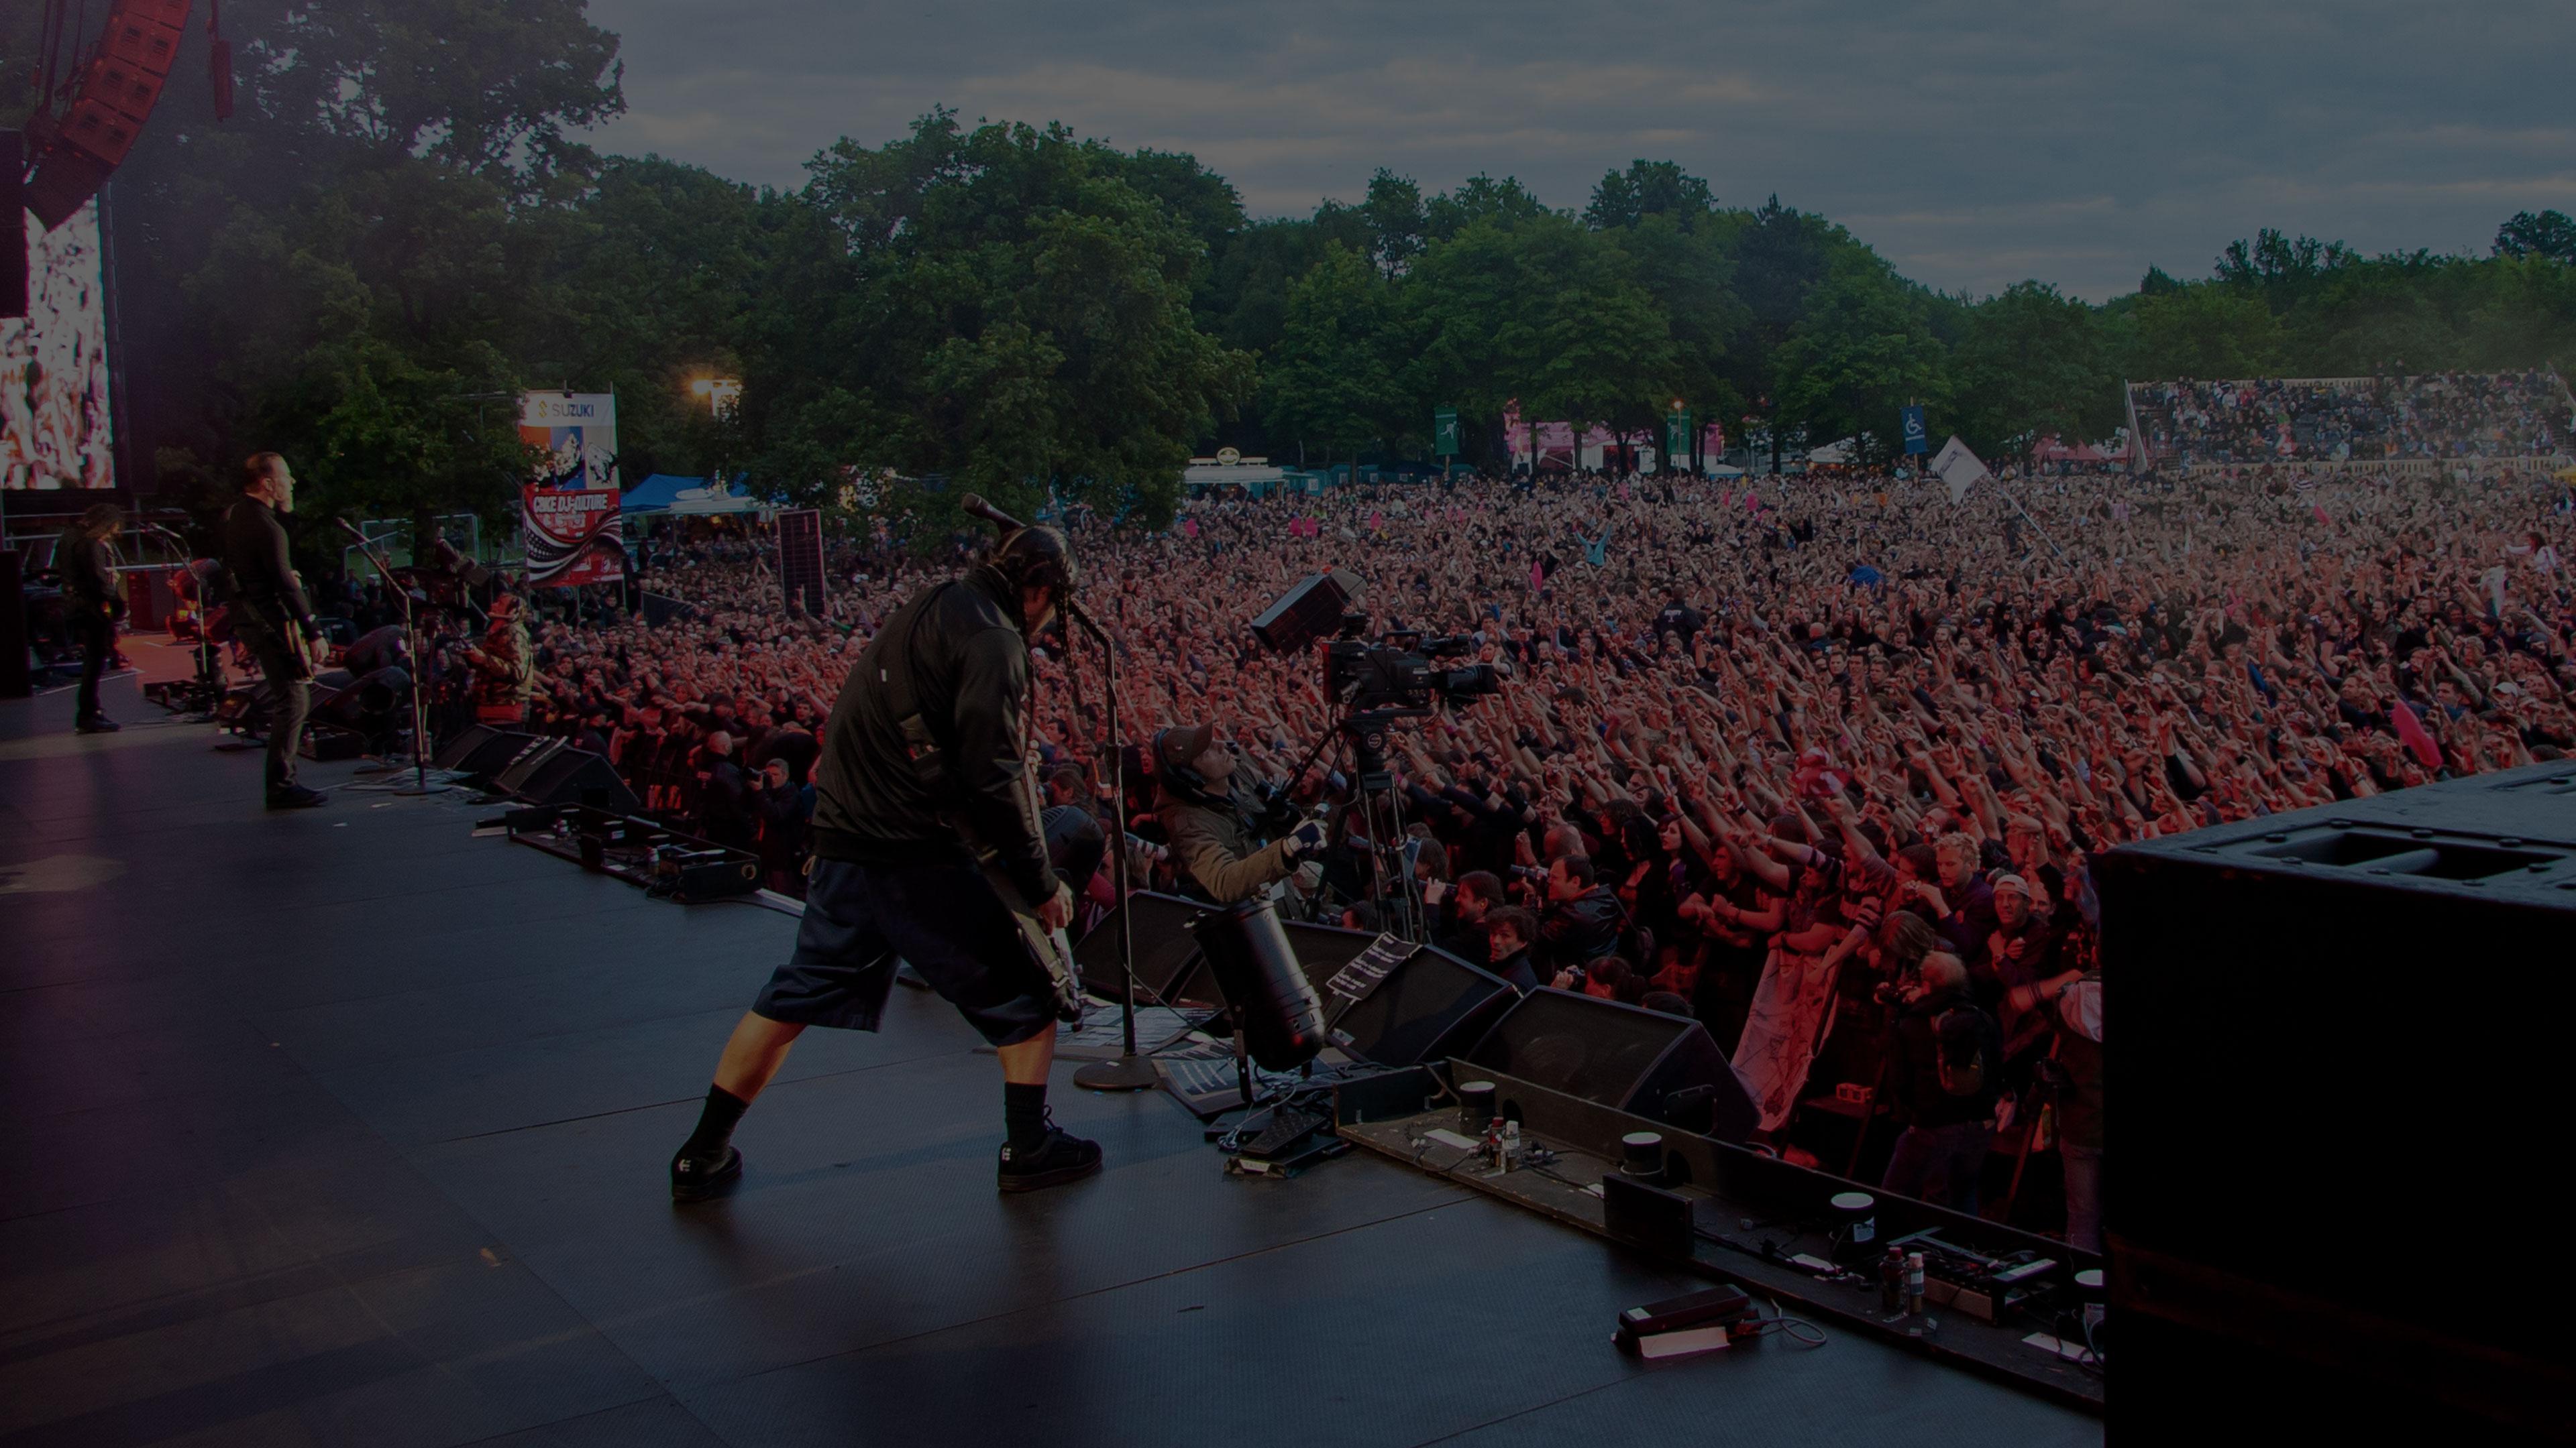
POLYGON ((98 201, 26 219, 26 317, 0 317, 0 487, 116 487, 98 201))

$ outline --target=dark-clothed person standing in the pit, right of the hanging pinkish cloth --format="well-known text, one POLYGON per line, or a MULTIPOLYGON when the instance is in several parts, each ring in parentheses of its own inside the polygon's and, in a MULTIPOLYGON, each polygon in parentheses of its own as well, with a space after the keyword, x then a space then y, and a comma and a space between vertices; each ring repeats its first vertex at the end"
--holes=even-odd
POLYGON ((1968 995, 1968 966, 1947 951, 1924 956, 1899 995, 1886 1080, 1904 1134, 1878 1185, 1973 1216, 2004 1033, 1968 995))

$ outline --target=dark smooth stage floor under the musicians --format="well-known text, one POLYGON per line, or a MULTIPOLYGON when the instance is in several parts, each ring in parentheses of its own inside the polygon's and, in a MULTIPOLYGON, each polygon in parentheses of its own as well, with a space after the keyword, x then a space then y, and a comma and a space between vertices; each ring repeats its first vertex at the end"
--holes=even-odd
MULTIPOLYGON (((665 1162, 793 920, 677 907, 469 809, 258 809, 255 752, 0 703, 0 1445, 2099 1443, 1857 1335, 1638 1366, 1690 1291, 1352 1154, 1229 1180, 1172 1100, 999 1198, 938 1000, 814 1031, 732 1198, 665 1162)), ((350 765, 314 765, 340 786, 350 765)))

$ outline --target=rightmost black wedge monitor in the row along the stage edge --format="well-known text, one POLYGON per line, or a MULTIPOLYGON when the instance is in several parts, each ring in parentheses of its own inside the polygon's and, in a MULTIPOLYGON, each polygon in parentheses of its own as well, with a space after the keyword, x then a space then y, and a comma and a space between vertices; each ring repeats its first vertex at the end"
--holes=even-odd
POLYGON ((1535 989, 1463 1059, 1646 1121, 1667 1121, 1669 1098, 1710 1087, 1705 1134, 1721 1141, 1741 1141, 1759 1118, 1705 1025, 1641 1005, 1535 989))

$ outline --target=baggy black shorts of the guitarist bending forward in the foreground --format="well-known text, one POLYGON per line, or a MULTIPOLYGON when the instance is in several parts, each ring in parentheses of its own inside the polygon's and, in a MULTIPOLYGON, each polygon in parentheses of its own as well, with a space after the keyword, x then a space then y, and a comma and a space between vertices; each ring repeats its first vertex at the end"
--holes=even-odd
POLYGON ((994 1046, 1056 1028, 1056 989, 1010 907, 974 866, 814 861, 796 953, 752 1002, 793 1025, 876 1031, 894 961, 940 992, 994 1046))

